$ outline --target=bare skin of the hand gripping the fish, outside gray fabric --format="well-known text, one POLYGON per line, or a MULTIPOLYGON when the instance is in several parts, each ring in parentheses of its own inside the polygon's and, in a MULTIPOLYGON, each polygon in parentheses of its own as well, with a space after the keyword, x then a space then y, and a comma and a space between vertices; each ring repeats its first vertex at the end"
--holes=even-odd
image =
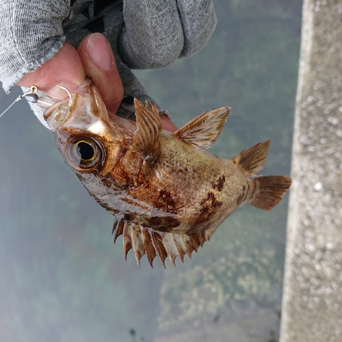
MULTIPOLYGON (((50 60, 32 73, 26 74, 18 86, 39 90, 53 98, 64 98, 65 91, 56 84, 73 92, 86 78, 92 77, 109 111, 116 113, 124 93, 120 75, 116 67, 114 53, 102 34, 86 36, 76 49, 64 43, 50 60)), ((161 116, 163 129, 175 131, 176 126, 165 115, 161 116)))

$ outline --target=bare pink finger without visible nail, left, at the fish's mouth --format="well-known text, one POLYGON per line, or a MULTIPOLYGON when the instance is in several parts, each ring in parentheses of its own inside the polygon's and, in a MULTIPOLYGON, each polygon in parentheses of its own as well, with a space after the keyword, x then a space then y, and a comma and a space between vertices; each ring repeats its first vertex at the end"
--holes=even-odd
POLYGON ((64 98, 66 92, 58 87, 64 86, 73 92, 86 78, 81 58, 76 49, 65 42, 62 49, 50 60, 32 73, 26 74, 18 86, 37 86, 38 90, 49 94, 53 98, 64 98))

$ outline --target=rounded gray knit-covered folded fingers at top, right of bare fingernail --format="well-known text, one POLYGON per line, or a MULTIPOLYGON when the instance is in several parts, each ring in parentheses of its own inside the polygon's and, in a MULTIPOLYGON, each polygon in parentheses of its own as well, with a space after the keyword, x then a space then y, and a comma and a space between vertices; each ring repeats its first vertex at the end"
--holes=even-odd
POLYGON ((124 1, 118 51, 130 68, 160 68, 196 53, 213 34, 211 0, 124 1))

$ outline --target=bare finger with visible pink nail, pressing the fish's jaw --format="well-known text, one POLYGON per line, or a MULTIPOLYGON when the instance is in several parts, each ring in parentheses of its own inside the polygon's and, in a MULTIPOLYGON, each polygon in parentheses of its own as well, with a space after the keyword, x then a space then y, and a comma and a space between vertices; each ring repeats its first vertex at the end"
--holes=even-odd
POLYGON ((77 52, 86 74, 92 77, 107 109, 116 113, 124 88, 108 40, 102 34, 90 34, 81 41, 77 52))

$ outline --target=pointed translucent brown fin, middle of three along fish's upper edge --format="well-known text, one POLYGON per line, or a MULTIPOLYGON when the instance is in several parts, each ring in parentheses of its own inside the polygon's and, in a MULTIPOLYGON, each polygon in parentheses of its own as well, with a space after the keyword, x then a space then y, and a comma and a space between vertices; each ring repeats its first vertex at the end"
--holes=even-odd
POLYGON ((184 124, 174 132, 174 135, 187 144, 205 150, 220 136, 230 109, 230 107, 221 107, 215 110, 207 110, 184 124))

